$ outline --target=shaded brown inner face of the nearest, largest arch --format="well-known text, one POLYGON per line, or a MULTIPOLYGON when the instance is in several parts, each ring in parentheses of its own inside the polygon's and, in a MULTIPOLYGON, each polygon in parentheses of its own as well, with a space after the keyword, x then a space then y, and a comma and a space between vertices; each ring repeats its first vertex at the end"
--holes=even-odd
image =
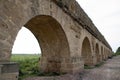
POLYGON ((69 44, 61 25, 53 17, 35 16, 25 25, 41 47, 40 70, 42 72, 67 72, 70 57, 69 44))

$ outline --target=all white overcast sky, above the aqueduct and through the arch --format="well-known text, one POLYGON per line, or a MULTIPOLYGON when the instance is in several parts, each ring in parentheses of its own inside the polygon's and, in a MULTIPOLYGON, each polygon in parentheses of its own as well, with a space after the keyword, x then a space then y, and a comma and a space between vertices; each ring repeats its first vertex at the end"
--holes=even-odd
MULTIPOLYGON (((93 23, 109 42, 113 51, 120 46, 120 0, 77 0, 93 23)), ((12 53, 40 53, 32 33, 22 28, 12 53)))

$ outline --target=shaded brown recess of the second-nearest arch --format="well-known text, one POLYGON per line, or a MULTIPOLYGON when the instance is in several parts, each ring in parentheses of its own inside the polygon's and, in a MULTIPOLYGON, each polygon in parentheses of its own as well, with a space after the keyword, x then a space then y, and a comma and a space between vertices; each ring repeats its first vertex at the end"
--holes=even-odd
POLYGON ((93 59, 92 59, 93 57, 92 57, 90 41, 87 37, 85 37, 82 43, 81 56, 84 60, 84 65, 93 65, 93 59))

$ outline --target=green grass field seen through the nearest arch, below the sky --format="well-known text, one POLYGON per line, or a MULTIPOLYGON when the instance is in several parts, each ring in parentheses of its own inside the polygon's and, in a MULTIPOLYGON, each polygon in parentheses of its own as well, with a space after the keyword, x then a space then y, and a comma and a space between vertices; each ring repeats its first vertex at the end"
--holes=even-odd
POLYGON ((13 54, 11 61, 19 63, 19 80, 39 73, 40 54, 13 54))

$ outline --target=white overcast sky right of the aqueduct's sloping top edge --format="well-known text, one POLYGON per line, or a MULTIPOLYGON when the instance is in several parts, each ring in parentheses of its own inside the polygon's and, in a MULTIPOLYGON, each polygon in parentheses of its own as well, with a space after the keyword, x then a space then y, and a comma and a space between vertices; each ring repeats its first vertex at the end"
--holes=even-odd
POLYGON ((120 0, 77 1, 116 51, 120 46, 120 0))

